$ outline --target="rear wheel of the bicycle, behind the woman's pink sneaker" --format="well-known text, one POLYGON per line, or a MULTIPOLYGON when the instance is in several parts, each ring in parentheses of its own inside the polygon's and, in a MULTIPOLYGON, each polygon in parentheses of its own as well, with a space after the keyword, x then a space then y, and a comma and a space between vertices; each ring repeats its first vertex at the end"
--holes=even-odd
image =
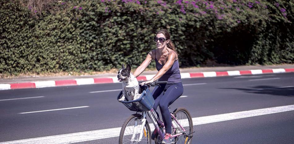
MULTIPOLYGON (((186 135, 182 134, 178 137, 175 137, 175 144, 191 144, 193 134, 193 122, 189 111, 184 107, 180 107, 174 110, 173 115, 175 116, 179 124, 186 130, 186 134, 189 136, 187 138, 186 135)), ((183 132, 180 127, 177 127, 175 120, 172 120, 172 123, 175 126, 175 128, 172 129, 173 135, 183 132)))

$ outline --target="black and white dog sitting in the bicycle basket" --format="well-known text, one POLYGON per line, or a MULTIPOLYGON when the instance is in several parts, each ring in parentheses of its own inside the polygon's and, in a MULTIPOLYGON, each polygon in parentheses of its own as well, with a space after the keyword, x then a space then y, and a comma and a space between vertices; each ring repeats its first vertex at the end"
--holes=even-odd
POLYGON ((131 73, 131 65, 127 68, 122 65, 122 68, 117 74, 118 81, 123 82, 123 93, 119 101, 132 101, 140 98, 141 88, 136 77, 131 73))

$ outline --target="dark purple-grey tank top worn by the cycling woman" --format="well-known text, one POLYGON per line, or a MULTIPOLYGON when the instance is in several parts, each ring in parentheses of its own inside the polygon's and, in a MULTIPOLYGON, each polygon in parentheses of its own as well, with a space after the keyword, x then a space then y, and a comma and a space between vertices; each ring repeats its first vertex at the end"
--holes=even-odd
MULTIPOLYGON (((162 69, 163 65, 158 62, 156 59, 156 50, 155 50, 155 63, 156 63, 156 69, 159 71, 162 69)), ((161 78, 158 79, 158 81, 167 81, 167 84, 173 84, 177 82, 181 82, 181 74, 179 69, 179 61, 176 60, 174 64, 171 66, 171 68, 163 74, 161 78)))

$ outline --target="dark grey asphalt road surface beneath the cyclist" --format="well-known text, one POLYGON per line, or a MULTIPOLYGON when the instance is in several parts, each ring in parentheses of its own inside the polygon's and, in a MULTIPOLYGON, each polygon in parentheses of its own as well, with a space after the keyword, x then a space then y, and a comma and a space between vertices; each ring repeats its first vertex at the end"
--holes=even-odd
MULTIPOLYGON (((193 144, 294 143, 294 109, 266 113, 267 108, 294 105, 294 73, 190 78, 183 79, 183 84, 186 97, 170 107, 186 107, 193 118, 265 111, 260 116, 194 125, 193 144)), ((119 128, 134 113, 117 101, 119 89, 120 83, 1 90, 0 144, 119 128)), ((92 143, 115 144, 118 137, 75 144, 92 143)))

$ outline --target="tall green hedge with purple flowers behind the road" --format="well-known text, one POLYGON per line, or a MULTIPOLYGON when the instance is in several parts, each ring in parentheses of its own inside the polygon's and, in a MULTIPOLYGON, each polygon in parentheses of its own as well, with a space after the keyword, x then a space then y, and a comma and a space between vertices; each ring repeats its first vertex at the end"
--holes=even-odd
POLYGON ((282 0, 4 0, 0 73, 136 68, 162 28, 181 67, 293 63, 293 14, 282 0))

